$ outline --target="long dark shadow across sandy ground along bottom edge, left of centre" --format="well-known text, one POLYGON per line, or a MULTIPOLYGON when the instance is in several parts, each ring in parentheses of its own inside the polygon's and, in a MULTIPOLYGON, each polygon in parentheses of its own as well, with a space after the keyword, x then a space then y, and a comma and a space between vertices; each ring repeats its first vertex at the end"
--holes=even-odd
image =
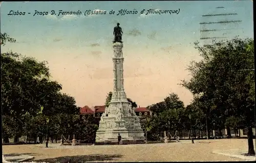
POLYGON ((121 158, 122 155, 107 155, 107 154, 91 154, 91 155, 78 155, 78 156, 64 156, 46 159, 33 160, 36 162, 85 162, 85 161, 104 161, 121 158))

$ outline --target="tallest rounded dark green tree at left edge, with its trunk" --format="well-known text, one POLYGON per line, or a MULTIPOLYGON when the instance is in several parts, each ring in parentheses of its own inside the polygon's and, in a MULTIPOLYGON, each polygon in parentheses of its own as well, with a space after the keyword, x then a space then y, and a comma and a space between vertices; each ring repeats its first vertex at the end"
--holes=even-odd
MULTIPOLYGON (((61 89, 50 81, 46 62, 37 62, 17 53, 1 53, 2 115, 10 116, 19 126, 15 141, 22 134, 24 115, 36 116, 41 106, 52 103, 53 95, 61 89)), ((13 132, 14 133, 14 132, 13 132)))

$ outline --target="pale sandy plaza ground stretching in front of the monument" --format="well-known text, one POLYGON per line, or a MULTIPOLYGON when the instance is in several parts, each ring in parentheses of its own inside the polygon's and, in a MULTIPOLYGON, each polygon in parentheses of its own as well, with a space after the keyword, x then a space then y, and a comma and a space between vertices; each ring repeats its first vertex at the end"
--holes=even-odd
MULTIPOLYGON (((255 139, 253 140, 255 144, 255 139)), ((234 161, 246 160, 230 157, 231 153, 247 153, 247 139, 183 140, 179 143, 137 145, 59 146, 5 145, 3 154, 25 154, 35 162, 84 162, 84 161, 234 161), (224 152, 224 154, 223 154, 224 152), (229 153, 230 153, 229 152, 229 153)), ((242 154, 241 154, 242 156, 242 154)), ((248 158, 248 157, 247 157, 248 158)), ((253 159, 253 157, 251 156, 253 159)))

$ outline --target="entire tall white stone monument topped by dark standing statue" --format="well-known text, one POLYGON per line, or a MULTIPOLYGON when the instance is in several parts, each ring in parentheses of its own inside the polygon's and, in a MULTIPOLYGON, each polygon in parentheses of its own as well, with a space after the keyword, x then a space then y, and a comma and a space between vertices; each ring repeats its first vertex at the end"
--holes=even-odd
POLYGON ((96 143, 117 141, 118 133, 122 142, 144 142, 144 132, 140 120, 136 116, 123 87, 123 44, 122 29, 117 23, 114 28, 113 65, 114 65, 114 90, 109 107, 105 107, 99 128, 96 132, 96 143))

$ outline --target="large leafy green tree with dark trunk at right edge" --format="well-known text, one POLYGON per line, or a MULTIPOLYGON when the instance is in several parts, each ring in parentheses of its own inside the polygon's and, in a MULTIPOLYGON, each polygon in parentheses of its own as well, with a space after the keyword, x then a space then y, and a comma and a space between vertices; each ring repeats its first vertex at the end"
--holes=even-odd
POLYGON ((239 39, 213 42, 200 46, 195 43, 203 60, 192 62, 188 70, 192 78, 182 81, 182 86, 190 90, 204 104, 203 111, 217 120, 242 115, 248 128, 248 154, 255 154, 252 142, 254 122, 254 42, 239 39), (252 97, 253 96, 253 97, 252 97), (216 116, 218 115, 218 116, 216 116))

